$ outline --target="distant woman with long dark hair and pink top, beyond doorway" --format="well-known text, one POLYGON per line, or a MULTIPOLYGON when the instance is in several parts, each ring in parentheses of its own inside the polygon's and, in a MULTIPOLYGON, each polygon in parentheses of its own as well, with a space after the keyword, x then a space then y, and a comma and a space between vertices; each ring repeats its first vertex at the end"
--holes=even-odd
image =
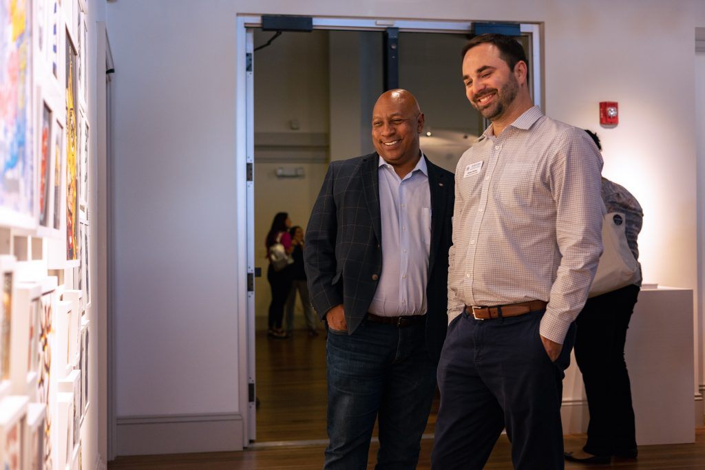
POLYGON ((291 254, 293 246, 291 245, 291 235, 289 228, 291 220, 286 212, 279 212, 274 216, 271 222, 271 228, 266 235, 265 245, 269 266, 266 271, 266 279, 271 287, 271 303, 269 304, 269 330, 267 336, 273 339, 286 339, 289 336, 281 329, 281 321, 284 316, 284 304, 291 290, 291 270, 290 266, 277 271, 272 264, 269 256, 269 249, 275 243, 281 243, 284 246, 287 254, 291 254))

